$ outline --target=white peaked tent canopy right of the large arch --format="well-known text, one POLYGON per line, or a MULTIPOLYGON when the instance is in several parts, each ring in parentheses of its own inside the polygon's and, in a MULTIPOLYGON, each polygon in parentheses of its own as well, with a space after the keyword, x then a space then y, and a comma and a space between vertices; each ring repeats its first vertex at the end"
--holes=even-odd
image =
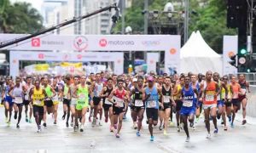
POLYGON ((222 57, 207 45, 200 31, 193 32, 181 48, 181 72, 205 73, 213 71, 222 74, 222 57))

